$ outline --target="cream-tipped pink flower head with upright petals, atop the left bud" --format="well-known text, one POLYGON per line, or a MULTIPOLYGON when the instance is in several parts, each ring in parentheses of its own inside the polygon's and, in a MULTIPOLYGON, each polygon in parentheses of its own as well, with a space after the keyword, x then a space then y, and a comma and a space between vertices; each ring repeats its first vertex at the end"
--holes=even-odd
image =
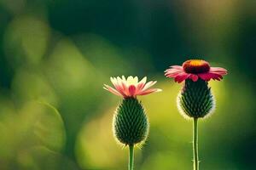
POLYGON ((136 98, 137 95, 146 95, 161 91, 159 88, 150 88, 156 83, 156 81, 146 83, 147 77, 144 77, 140 82, 138 82, 137 77, 128 77, 125 79, 124 76, 122 76, 122 78, 110 77, 110 80, 113 83, 114 88, 111 88, 106 84, 104 84, 103 88, 112 94, 122 96, 124 98, 136 98))

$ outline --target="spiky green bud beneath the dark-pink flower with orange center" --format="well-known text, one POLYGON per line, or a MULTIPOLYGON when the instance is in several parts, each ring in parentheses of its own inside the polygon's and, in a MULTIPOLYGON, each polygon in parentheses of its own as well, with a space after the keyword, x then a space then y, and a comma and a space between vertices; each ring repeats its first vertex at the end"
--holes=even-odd
POLYGON ((201 79, 193 82, 187 79, 177 96, 177 105, 185 117, 201 118, 208 116, 215 107, 208 82, 201 79))

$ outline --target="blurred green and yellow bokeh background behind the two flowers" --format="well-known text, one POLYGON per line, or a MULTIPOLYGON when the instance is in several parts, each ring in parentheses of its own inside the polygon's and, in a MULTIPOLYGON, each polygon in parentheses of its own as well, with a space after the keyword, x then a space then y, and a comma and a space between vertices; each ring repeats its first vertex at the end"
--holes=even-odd
POLYGON ((256 169, 256 1, 1 0, 0 169, 124 170, 111 76, 158 80, 137 170, 192 169, 192 122, 169 65, 206 59, 229 71, 199 124, 201 169, 256 169))

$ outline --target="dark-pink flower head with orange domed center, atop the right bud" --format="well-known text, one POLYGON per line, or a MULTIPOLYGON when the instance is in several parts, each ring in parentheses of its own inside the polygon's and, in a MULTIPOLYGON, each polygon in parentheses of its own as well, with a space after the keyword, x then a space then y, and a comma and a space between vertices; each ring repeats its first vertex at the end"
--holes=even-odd
POLYGON ((166 71, 166 77, 174 78, 175 82, 183 82, 192 79, 196 82, 198 78, 204 81, 218 80, 227 74, 227 70, 221 67, 211 67, 209 63, 202 59, 189 59, 180 65, 172 65, 166 71))

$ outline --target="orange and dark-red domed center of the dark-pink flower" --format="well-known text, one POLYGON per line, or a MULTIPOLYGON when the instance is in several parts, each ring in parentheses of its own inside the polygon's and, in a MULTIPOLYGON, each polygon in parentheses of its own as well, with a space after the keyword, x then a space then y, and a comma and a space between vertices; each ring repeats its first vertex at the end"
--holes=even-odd
POLYGON ((210 71, 210 65, 202 59, 189 59, 183 62, 183 70, 187 73, 204 73, 210 71))

